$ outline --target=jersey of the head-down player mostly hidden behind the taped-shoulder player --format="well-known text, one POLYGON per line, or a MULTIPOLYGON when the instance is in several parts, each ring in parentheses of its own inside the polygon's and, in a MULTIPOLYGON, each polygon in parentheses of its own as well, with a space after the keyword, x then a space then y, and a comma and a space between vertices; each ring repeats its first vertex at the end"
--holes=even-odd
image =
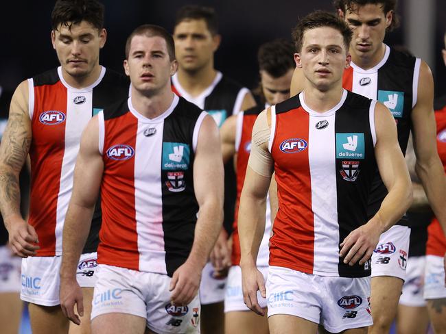
MULTIPOLYGON (((237 218, 239 214, 240 195, 242 194, 243 183, 245 181, 246 168, 248 166, 249 154, 251 151, 251 136, 253 133, 253 127, 257 116, 265 109, 265 105, 256 105, 255 107, 248 109, 244 112, 237 114, 237 127, 235 129, 235 151, 237 152, 237 199, 235 201, 235 215, 233 222, 233 249, 231 254, 231 262, 233 266, 239 266, 240 264, 240 240, 239 232, 237 229, 237 218)), ((271 231, 271 211, 270 201, 267 198, 266 201, 266 215, 265 215, 265 233, 259 247, 259 253, 257 254, 257 266, 268 266, 268 240, 270 238, 271 231)))

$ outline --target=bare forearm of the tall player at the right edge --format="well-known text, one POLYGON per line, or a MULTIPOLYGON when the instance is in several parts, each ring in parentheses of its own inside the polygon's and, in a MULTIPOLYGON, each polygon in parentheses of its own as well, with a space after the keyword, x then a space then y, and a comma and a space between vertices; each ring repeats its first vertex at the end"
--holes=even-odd
POLYGON ((446 234, 446 177, 440 159, 432 159, 427 164, 417 163, 415 170, 421 179, 430 207, 446 234))

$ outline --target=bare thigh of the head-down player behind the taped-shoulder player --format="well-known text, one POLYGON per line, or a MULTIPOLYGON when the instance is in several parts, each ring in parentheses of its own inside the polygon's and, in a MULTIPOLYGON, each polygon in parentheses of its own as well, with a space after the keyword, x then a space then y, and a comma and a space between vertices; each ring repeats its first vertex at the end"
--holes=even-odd
MULTIPOLYGON (((263 309, 267 312, 267 309, 263 309)), ((224 314, 224 333, 268 334, 268 318, 253 311, 233 311, 224 314)))

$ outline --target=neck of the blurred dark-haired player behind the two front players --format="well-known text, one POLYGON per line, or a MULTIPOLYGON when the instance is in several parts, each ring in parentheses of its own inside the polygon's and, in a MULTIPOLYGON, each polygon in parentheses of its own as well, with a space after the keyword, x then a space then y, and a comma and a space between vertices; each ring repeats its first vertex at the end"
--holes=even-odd
POLYGON ((211 86, 216 76, 217 71, 213 68, 213 62, 194 71, 178 68, 177 75, 181 87, 191 95, 191 97, 198 97, 198 95, 204 92, 204 90, 211 86))

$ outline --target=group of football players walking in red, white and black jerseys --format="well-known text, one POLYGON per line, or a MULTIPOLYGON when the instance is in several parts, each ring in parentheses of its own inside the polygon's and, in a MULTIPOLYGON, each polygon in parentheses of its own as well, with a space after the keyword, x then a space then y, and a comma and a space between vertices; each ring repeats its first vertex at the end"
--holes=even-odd
MULTIPOLYGON (((33 333, 388 333, 415 196, 436 216, 424 298, 444 333, 446 103, 434 113, 427 64, 384 44, 395 6, 336 1, 294 46, 263 44, 256 102, 213 66, 211 8, 178 10, 173 36, 137 27, 128 81, 99 65, 104 7, 56 1, 60 66, 19 85, 1 140, 8 324, 18 284, 33 333)), ((425 331, 407 305, 401 333, 425 331)))

